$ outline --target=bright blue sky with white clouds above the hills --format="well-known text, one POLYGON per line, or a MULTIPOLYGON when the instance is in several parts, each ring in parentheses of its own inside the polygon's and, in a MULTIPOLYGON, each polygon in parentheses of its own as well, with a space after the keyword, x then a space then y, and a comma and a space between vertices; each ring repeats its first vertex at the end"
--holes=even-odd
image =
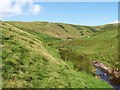
POLYGON ((117 2, 30 2, 29 0, 29 2, 8 4, 10 5, 7 5, 7 8, 14 11, 10 12, 8 9, 2 17, 0 9, 1 20, 47 21, 90 26, 114 23, 118 20, 117 2))

